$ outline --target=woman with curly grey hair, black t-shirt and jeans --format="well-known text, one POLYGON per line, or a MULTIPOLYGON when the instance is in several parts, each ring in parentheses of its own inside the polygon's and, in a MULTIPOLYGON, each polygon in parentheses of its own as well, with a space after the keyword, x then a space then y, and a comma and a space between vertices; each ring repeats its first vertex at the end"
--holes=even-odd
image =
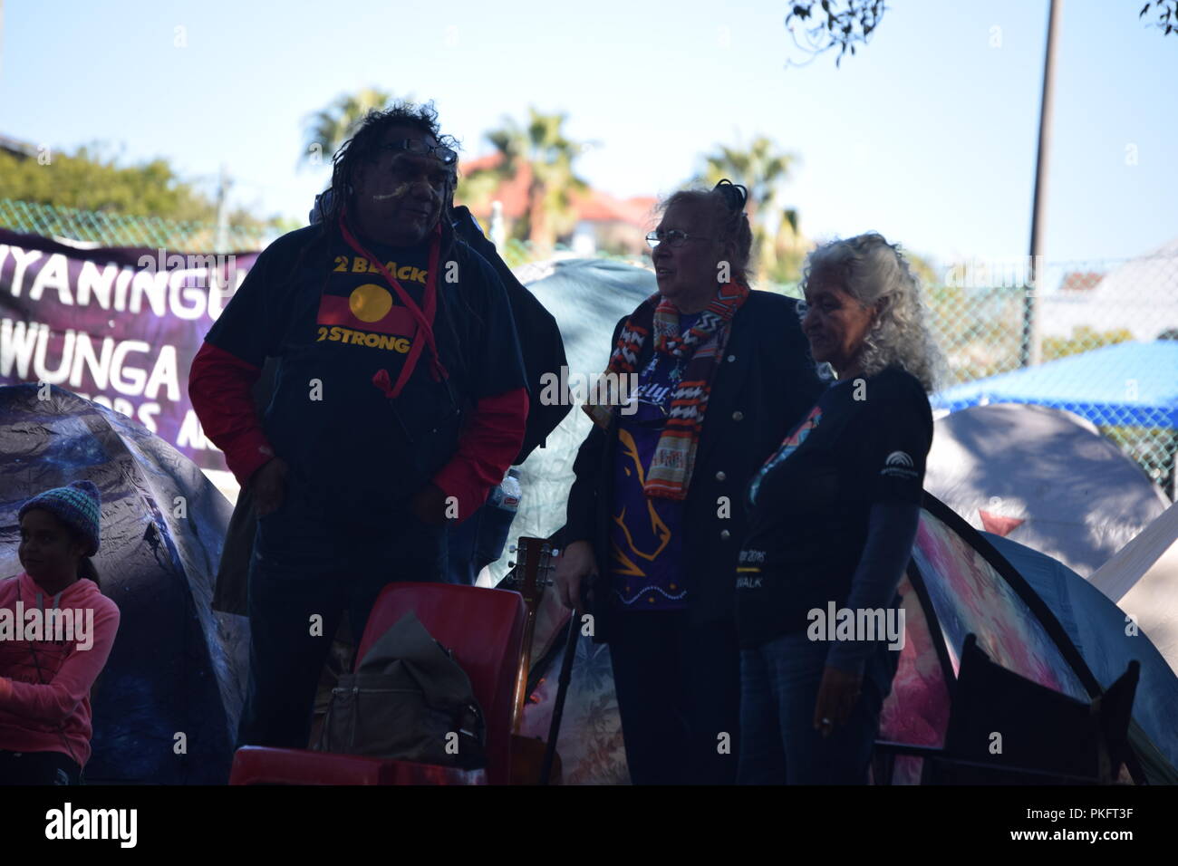
POLYGON ((867 781, 904 646, 939 366, 919 287, 875 233, 807 260, 802 331, 838 379, 748 485, 736 574, 743 784, 867 781))

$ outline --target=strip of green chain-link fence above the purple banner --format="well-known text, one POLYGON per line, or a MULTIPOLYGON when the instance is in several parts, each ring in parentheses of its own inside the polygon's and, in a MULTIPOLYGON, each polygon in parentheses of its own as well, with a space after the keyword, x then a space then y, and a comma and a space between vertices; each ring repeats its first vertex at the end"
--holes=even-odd
MULTIPOLYGON (((216 223, 190 223, 161 217, 131 217, 102 211, 19 201, 0 198, 0 227, 25 234, 95 246, 139 246, 174 252, 212 252, 217 244, 216 223)), ((229 226, 225 251, 249 252, 266 245, 273 232, 265 229, 229 226)))

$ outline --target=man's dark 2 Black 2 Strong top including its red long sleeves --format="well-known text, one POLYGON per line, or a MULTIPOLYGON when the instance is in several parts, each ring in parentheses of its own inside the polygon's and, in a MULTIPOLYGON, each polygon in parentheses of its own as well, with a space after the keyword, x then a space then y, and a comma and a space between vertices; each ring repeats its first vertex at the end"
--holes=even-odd
MULTIPOLYGON (((188 384, 205 434, 240 482, 277 455, 340 510, 404 509, 431 482, 456 497, 459 520, 483 504, 523 443, 527 382, 498 276, 452 232, 443 238, 432 325, 448 376, 431 375, 424 348, 396 398, 382 376, 396 381, 422 337, 376 263, 322 226, 258 257, 188 384), (266 357, 279 365, 259 417, 251 388, 266 357)), ((421 306, 428 244, 368 249, 421 306)))

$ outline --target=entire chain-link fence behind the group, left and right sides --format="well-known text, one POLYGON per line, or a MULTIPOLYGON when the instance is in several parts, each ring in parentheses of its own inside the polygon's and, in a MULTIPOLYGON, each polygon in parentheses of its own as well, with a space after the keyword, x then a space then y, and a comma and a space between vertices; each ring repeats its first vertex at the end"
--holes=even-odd
MULTIPOLYGON (((193 252, 212 250, 217 238, 217 226, 211 223, 80 211, 13 199, 0 199, 0 226, 97 246, 193 252)), ((270 232, 263 229, 230 226, 226 232, 231 250, 259 250, 269 239, 270 232)), ((529 246, 518 240, 509 240, 503 256, 511 266, 532 258, 529 246)), ((1045 402, 1087 418, 1174 497, 1176 410, 1172 402, 1150 405, 1146 398, 1154 396, 1158 388, 1146 385, 1159 378, 1178 383, 1178 364, 1159 370, 1159 364, 1170 364, 1176 356, 1145 349, 1157 348, 1160 342, 1178 345, 1178 239, 1132 259, 1040 264, 1035 291, 1027 289, 1031 280, 1026 262, 969 262, 940 277, 925 286, 925 299, 947 362, 942 395, 952 395, 954 386, 967 383, 978 383, 979 388, 993 383, 995 392, 1000 392, 1011 382, 994 377, 1040 368, 1050 373, 1047 390, 1065 396, 1015 402, 1045 402), (1059 363, 1120 344, 1136 344, 1145 351, 1117 356, 1119 377, 1125 383, 1119 397, 1085 397, 1085 370, 1091 368, 1059 363)), ((779 290, 798 295, 796 286, 779 290)), ((1108 355, 1092 358, 1113 363, 1108 355)), ((1178 385, 1166 390, 1163 384, 1162 391, 1173 401, 1178 385)), ((951 401, 951 408, 986 399, 984 394, 973 395, 957 403, 951 401)))

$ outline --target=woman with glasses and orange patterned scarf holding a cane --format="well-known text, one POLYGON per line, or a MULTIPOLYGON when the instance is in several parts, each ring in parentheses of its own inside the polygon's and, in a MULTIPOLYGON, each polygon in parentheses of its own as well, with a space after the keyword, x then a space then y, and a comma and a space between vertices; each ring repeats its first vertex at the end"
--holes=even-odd
POLYGON ((747 191, 681 191, 648 236, 659 291, 618 322, 588 405, 556 581, 588 589, 635 784, 732 784, 741 491, 821 390, 795 302, 752 291, 747 191))

